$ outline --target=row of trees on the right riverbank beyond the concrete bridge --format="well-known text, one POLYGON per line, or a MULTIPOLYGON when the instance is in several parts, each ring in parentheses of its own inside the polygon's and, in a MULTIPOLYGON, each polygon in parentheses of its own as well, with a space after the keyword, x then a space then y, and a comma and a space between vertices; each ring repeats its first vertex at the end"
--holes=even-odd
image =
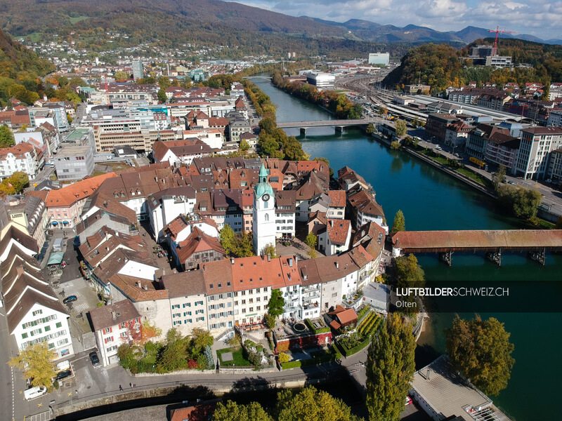
POLYGON ((277 88, 313 104, 326 107, 338 119, 360 119, 362 116, 362 105, 359 103, 353 104, 344 94, 337 93, 336 91, 320 92, 310 83, 303 83, 301 81, 289 82, 283 79, 279 71, 274 72, 272 76, 273 84, 277 88))

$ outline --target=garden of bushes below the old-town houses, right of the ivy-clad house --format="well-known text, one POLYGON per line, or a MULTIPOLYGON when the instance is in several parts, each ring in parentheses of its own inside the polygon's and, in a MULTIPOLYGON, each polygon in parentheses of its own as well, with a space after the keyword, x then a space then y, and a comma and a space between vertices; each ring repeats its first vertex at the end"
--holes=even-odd
POLYGON ((213 337, 207 330, 194 329, 183 337, 170 329, 163 342, 123 344, 117 350, 119 363, 131 373, 171 373, 177 370, 214 368, 211 352, 213 337))

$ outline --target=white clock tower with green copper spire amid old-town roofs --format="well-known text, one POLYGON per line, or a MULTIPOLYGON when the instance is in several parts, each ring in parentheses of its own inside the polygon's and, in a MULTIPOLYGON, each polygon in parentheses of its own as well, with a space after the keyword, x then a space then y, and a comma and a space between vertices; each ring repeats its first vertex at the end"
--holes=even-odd
POLYGON ((268 182, 269 171, 261 164, 259 183, 254 187, 254 251, 262 255, 266 246, 275 246, 275 193, 268 182))

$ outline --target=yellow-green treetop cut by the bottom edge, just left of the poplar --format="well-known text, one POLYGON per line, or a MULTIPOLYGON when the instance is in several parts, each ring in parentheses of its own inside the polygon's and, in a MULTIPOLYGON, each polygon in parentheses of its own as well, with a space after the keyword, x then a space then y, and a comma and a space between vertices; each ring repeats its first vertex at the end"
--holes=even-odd
POLYGON ((329 393, 307 386, 300 392, 282 390, 277 394, 277 421, 359 421, 351 408, 329 393))

